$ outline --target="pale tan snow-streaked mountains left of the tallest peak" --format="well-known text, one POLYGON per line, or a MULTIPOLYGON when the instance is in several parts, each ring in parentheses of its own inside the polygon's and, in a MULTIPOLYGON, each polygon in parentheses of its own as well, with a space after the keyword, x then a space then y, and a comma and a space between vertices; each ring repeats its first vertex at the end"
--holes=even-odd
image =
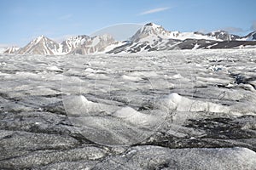
MULTIPOLYGON (((24 48, 20 48, 15 54, 96 54, 104 52, 108 46, 119 44, 110 35, 96 37, 76 36, 66 41, 57 43, 48 37, 40 36, 29 42, 24 48)), ((108 49, 112 49, 109 48, 108 49)))

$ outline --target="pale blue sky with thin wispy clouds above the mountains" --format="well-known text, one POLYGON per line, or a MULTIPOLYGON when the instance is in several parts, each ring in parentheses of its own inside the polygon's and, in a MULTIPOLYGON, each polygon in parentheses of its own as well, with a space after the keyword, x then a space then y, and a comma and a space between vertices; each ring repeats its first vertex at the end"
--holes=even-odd
POLYGON ((123 35, 148 22, 246 35, 256 30, 255 7, 256 0, 0 0, 0 47, 23 47, 41 35, 60 42, 119 24, 125 26, 113 32, 123 35))

